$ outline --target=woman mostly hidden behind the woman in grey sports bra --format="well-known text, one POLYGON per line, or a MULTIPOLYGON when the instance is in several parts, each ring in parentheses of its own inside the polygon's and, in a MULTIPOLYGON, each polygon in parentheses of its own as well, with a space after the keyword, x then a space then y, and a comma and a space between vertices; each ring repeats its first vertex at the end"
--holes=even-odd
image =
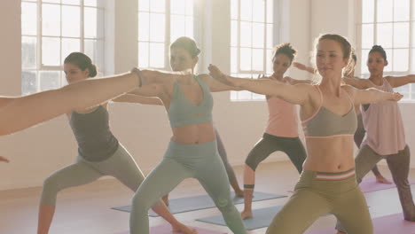
MULTIPOLYGON (((348 71, 346 71, 346 73, 344 74, 345 77, 348 78, 354 78, 355 77, 355 67, 356 67, 356 62, 357 62, 357 57, 356 57, 356 53, 355 51, 352 51, 352 56, 351 58, 353 59, 350 62, 350 66, 348 71)), ((303 71, 307 71, 311 74, 315 74, 317 71, 311 67, 311 66, 305 66, 301 63, 294 63, 293 66, 297 67, 300 70, 303 71)), ((354 140, 355 140, 355 144, 357 146, 357 148, 360 148, 360 146, 362 145, 362 142, 364 140, 364 136, 366 135, 366 130, 364 129, 364 123, 362 120, 362 113, 360 111, 361 105, 355 105, 355 112, 357 115, 357 129, 355 132, 355 136, 353 136, 354 140)), ((372 173, 373 175, 375 175, 376 177, 376 182, 378 183, 387 183, 390 184, 392 182, 388 181, 387 178, 385 178, 383 175, 380 174, 379 168, 377 165, 375 165, 372 168, 372 173)))

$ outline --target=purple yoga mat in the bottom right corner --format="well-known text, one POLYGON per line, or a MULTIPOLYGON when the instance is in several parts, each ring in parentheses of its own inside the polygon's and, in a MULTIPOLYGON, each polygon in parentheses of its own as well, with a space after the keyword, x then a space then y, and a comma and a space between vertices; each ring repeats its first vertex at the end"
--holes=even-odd
MULTIPOLYGON (((403 214, 390 214, 372 219, 374 234, 415 234, 415 222, 403 220, 403 214)), ((333 227, 306 231, 306 234, 333 234, 333 227)))

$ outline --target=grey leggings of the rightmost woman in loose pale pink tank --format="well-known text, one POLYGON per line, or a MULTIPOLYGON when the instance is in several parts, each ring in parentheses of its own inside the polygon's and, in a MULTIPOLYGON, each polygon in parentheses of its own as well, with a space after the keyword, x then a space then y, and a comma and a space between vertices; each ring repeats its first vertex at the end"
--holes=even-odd
MULTIPOLYGON (((370 146, 363 145, 355 159, 357 182, 362 182, 364 175, 373 168, 373 165, 383 159, 387 160, 388 168, 396 184, 404 219, 415 221, 415 205, 412 199, 411 185, 408 181, 411 159, 408 145, 402 151, 391 155, 380 155, 374 152, 370 146)), ((337 229, 343 230, 339 222, 337 229)))

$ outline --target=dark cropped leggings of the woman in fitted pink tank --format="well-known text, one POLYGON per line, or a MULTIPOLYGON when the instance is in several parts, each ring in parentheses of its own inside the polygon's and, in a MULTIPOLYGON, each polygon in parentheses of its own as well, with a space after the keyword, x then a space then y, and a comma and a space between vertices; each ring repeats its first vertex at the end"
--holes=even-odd
POLYGON ((302 163, 306 159, 307 153, 299 137, 272 136, 264 133, 262 139, 249 152, 245 163, 249 168, 255 170, 262 160, 268 158, 272 152, 278 151, 285 152, 298 172, 301 173, 302 163))

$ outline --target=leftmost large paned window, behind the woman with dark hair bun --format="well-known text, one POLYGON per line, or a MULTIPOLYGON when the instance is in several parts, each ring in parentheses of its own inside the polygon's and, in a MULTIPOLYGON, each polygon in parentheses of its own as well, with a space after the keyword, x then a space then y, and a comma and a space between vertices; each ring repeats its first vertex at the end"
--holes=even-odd
POLYGON ((104 8, 98 0, 22 0, 22 93, 66 84, 62 63, 73 51, 86 53, 104 70, 104 8))

